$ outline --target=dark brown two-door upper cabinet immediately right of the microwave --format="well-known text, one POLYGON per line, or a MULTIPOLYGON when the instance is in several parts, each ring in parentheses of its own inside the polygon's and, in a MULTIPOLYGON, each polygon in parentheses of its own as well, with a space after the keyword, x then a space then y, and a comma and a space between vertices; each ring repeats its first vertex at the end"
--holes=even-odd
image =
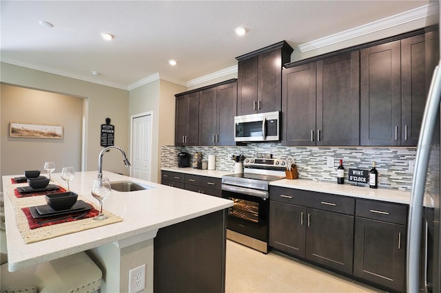
POLYGON ((283 70, 283 143, 292 146, 359 144, 357 51, 283 70))

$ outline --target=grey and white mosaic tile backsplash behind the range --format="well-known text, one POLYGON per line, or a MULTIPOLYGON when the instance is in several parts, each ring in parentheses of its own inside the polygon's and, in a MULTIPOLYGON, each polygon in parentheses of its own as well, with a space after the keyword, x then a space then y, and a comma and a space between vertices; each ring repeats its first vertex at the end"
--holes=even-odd
POLYGON ((378 186, 382 188, 406 188, 410 190, 412 171, 409 161, 415 162, 416 147, 334 147, 334 146, 282 146, 280 143, 255 143, 247 146, 161 146, 161 167, 177 167, 177 155, 185 151, 190 155, 201 151, 203 160, 216 155, 216 170, 234 170, 232 155, 243 154, 245 158, 257 153, 271 153, 273 158, 294 158, 299 178, 319 181, 337 181, 339 160, 345 166, 345 183, 349 169, 370 170, 376 162, 378 186), (334 158, 334 166, 327 166, 327 158, 334 158))

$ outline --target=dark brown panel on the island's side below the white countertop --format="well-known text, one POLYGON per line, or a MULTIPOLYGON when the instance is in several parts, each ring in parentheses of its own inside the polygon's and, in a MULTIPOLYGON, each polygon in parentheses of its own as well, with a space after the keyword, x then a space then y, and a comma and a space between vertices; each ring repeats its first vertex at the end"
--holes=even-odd
POLYGON ((161 228, 154 238, 154 292, 225 292, 224 211, 161 228))

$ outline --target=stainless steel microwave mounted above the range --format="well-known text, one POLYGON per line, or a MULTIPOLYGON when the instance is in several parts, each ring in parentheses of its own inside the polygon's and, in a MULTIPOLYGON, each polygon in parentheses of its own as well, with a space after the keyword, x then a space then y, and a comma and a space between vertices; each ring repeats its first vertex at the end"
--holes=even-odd
POLYGON ((280 140, 280 111, 234 117, 235 142, 280 140))

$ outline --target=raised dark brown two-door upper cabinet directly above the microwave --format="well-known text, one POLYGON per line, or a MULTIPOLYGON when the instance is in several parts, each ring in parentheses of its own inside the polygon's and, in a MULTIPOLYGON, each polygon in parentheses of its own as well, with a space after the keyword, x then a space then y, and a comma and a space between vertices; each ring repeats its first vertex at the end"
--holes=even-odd
POLYGON ((282 67, 293 49, 285 41, 236 57, 237 115, 281 110, 282 67))

